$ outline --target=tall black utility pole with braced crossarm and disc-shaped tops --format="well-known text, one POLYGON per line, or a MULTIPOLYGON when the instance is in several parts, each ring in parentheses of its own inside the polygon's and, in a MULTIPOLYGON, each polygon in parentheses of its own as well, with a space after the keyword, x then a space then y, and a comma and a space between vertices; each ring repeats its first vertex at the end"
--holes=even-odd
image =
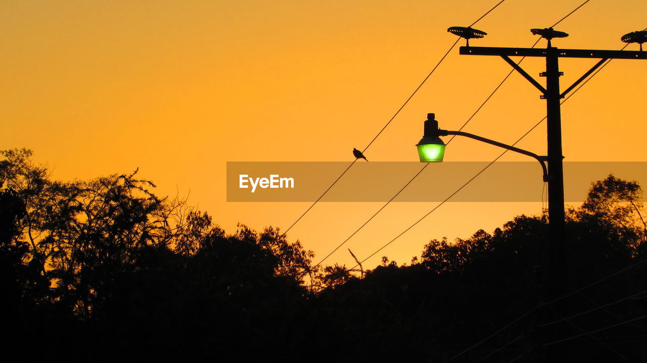
MULTIPOLYGON (((448 29, 457 36, 464 37, 465 39, 481 38, 487 33, 482 30, 472 29, 470 27, 453 26, 448 29)), ((548 221, 549 221, 549 241, 547 243, 547 251, 545 253, 545 266, 540 275, 543 276, 543 304, 553 301, 560 293, 556 282, 562 276, 557 276, 557 266, 564 267, 567 262, 562 261, 556 247, 565 242, 564 227, 565 227, 565 213, 564 213, 564 169, 562 160, 562 115, 560 110, 561 99, 564 98, 575 87, 580 85, 587 77, 589 77, 596 69, 603 65, 608 59, 647 59, 647 52, 642 50, 642 43, 647 42, 647 32, 642 30, 632 32, 622 36, 620 40, 625 43, 639 43, 641 45, 639 51, 629 50, 589 50, 589 49, 560 49, 553 47, 551 39, 559 37, 567 37, 568 34, 559 32, 553 28, 544 29, 531 29, 532 34, 540 35, 547 39, 547 48, 500 48, 500 47, 470 47, 467 43, 466 47, 461 47, 460 54, 470 56, 499 56, 514 68, 517 72, 527 79, 534 87, 536 87, 542 95, 540 98, 546 100, 546 123, 547 123, 547 169, 548 169, 548 221), (546 87, 543 87, 538 81, 530 76, 523 68, 519 67, 517 63, 512 61, 510 57, 544 57, 546 61, 546 70, 541 72, 540 76, 546 78, 546 87), (600 59, 590 70, 588 70, 582 77, 577 79, 573 85, 566 88, 564 92, 560 90, 560 77, 564 75, 560 72, 559 59, 560 58, 593 58, 600 59)), ((551 307, 552 308, 552 307, 551 307)), ((541 320, 547 320, 550 314, 544 309, 541 320)), ((543 331, 543 344, 547 340, 554 340, 556 337, 556 330, 554 327, 549 327, 549 330, 543 331)), ((542 346, 543 346, 542 344, 542 346)), ((555 351, 547 351, 541 349, 540 353, 544 362, 561 362, 569 361, 570 358, 565 355, 558 355, 555 351)))

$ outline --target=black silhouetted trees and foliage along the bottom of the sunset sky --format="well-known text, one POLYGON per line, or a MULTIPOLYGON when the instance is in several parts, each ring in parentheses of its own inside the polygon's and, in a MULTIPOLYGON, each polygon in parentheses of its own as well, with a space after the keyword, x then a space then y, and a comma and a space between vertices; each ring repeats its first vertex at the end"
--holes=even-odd
POLYGON ((593 183, 584 205, 568 211, 567 238, 553 253, 545 218, 518 216, 492 234, 431 240, 411 265, 385 257, 365 271, 313 267, 311 251, 271 227, 226 234, 179 198, 155 196, 137 172, 54 182, 30 151, 2 154, 6 357, 647 359, 645 320, 624 324, 647 315, 639 294, 647 264, 635 265, 647 259, 635 182, 593 183))

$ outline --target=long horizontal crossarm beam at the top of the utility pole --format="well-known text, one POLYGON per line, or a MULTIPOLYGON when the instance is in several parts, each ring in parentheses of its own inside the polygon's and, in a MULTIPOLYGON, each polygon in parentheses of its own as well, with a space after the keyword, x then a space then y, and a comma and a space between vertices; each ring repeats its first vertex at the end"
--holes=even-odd
POLYGON ((459 48, 459 54, 468 56, 546 57, 553 50, 556 50, 557 57, 560 58, 647 59, 646 51, 634 50, 461 47, 459 48))

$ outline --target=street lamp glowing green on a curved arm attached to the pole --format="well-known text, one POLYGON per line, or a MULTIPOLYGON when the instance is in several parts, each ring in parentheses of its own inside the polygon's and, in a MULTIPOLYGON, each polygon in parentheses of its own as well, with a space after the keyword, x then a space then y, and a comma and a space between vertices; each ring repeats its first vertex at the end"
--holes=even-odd
POLYGON ((543 181, 549 181, 548 171, 546 168, 546 161, 548 161, 547 156, 539 156, 534 152, 519 149, 517 147, 506 145, 505 143, 500 143, 498 141, 482 138, 481 136, 476 136, 468 132, 441 130, 438 127, 438 121, 435 119, 435 114, 427 114, 427 119, 424 121, 424 135, 416 145, 416 147, 418 148, 418 156, 420 157, 420 161, 422 163, 439 163, 443 161, 445 144, 439 136, 448 135, 465 136, 466 138, 483 141, 484 143, 488 143, 490 145, 502 147, 503 149, 531 156, 532 158, 535 158, 537 161, 539 161, 539 163, 542 165, 543 181))

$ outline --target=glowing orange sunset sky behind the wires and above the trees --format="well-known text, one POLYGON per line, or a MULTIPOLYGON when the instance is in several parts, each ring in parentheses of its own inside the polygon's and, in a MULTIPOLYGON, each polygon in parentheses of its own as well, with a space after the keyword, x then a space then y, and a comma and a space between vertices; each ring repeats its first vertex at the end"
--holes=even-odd
MULTIPOLYGON (((0 145, 34 150, 61 180, 140 167, 159 194, 190 191, 190 203, 228 232, 237 222, 285 229, 309 203, 227 203, 226 161, 351 161, 353 147, 364 149, 455 41, 446 28, 470 25, 497 2, 3 1, 0 145)), ((530 28, 580 3, 507 0, 475 26, 488 36, 472 45, 530 47, 530 28)), ((571 36, 554 45, 619 49, 620 36, 647 26, 645 14, 642 0, 591 0, 556 27, 571 36)), ((562 59, 562 88, 594 63, 562 59)), ((523 67, 543 70, 541 59, 523 67)), ((509 69, 455 49, 366 156, 416 160, 428 112, 457 129, 509 69)), ((613 61, 565 103, 566 160, 645 160, 646 71, 647 61, 613 61)), ((512 143, 544 114, 537 90, 514 74, 465 130, 512 143)), ((545 154, 545 127, 519 146, 545 154)), ((445 160, 489 161, 499 152, 457 139, 445 160)), ((381 205, 321 203, 289 238, 325 256, 381 205)), ((434 206, 393 203, 347 247, 364 258, 434 206)), ((383 255, 408 262, 430 238, 491 232, 540 207, 447 203, 367 264, 383 255)), ((344 248, 327 262, 351 261, 344 248)))

